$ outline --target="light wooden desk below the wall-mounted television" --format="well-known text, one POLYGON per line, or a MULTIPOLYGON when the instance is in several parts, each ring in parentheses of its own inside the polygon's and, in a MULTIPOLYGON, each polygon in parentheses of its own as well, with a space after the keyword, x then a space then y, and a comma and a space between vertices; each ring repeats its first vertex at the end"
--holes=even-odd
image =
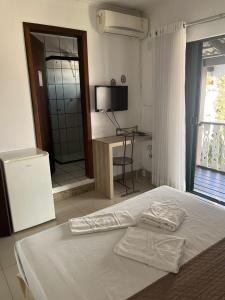
MULTIPOLYGON (((149 136, 136 136, 135 142, 151 140, 149 136)), ((95 190, 112 199, 113 187, 113 148, 123 146, 124 138, 110 136, 93 140, 95 190)))

